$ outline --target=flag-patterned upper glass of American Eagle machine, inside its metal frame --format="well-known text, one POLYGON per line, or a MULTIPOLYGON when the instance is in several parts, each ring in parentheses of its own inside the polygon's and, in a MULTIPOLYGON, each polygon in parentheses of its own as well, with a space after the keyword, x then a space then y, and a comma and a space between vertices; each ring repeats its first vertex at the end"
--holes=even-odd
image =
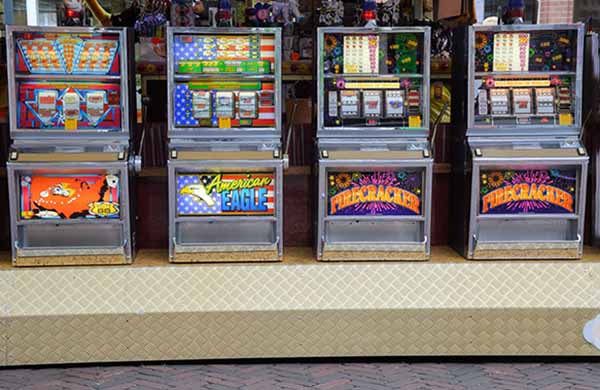
POLYGON ((176 35, 173 52, 175 127, 276 126, 275 35, 176 35))

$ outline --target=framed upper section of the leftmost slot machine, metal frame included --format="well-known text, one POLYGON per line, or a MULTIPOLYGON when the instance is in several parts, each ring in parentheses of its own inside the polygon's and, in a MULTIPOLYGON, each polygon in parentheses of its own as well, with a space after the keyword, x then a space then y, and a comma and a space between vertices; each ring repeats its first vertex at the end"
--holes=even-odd
POLYGON ((8 26, 11 137, 129 137, 127 30, 8 26))

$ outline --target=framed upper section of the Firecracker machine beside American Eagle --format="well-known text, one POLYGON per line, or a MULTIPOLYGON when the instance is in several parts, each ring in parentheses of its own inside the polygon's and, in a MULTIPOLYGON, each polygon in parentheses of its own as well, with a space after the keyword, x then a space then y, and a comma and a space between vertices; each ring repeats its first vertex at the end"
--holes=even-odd
POLYGON ((429 36, 429 28, 319 29, 318 136, 426 136, 429 36))

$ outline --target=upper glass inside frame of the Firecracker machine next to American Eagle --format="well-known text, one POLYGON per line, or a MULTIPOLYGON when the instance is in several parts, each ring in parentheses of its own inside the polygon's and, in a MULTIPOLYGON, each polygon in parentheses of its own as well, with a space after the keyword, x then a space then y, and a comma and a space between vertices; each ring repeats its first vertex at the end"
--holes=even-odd
POLYGON ((422 128, 423 34, 325 34, 324 125, 422 128))

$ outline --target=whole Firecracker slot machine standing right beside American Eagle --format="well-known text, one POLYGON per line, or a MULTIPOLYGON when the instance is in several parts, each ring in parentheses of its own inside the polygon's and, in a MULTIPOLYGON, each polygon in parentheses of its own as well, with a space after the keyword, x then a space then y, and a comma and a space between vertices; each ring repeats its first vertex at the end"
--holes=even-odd
POLYGON ((429 52, 429 27, 319 28, 319 260, 429 258, 429 52))

